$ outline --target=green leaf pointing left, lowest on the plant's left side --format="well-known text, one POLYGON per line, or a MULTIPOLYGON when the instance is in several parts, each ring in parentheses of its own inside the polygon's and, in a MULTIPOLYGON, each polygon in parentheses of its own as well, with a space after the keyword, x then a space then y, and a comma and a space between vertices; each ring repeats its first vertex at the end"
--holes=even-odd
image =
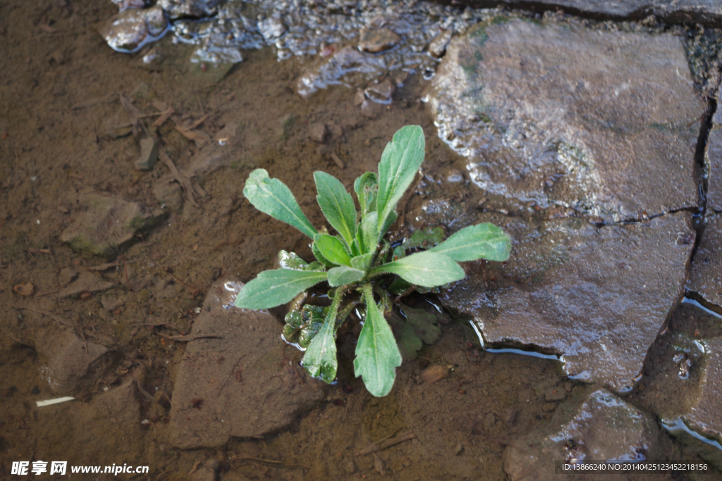
POLYGON ((326 278, 326 273, 318 270, 264 270, 243 286, 235 298, 235 305, 241 309, 270 309, 287 303, 326 278))

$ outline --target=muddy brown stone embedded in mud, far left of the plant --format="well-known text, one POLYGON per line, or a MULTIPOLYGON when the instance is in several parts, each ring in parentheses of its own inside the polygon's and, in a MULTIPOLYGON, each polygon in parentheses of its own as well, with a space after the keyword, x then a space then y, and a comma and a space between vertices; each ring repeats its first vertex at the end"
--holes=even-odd
POLYGON ((85 205, 87 210, 77 214, 60 234, 60 240, 77 252, 108 259, 136 242, 136 234, 152 229, 165 219, 160 209, 151 210, 141 203, 117 197, 89 194, 85 205))

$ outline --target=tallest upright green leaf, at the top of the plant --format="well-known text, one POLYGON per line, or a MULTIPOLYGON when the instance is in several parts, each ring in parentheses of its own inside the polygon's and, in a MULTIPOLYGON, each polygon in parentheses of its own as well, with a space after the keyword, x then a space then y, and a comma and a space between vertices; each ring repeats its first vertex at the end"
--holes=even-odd
MULTIPOLYGON (((404 195, 424 162, 424 131, 418 125, 406 125, 393 134, 378 164, 378 231, 386 233, 388 216, 404 195)), ((391 224, 388 224, 391 225, 391 224)))

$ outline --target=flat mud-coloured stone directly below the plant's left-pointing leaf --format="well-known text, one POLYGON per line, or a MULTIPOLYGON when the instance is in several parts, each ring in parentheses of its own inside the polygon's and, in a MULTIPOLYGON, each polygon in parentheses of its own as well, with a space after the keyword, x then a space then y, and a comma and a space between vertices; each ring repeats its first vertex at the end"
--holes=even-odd
POLYGON ((233 305, 241 287, 214 284, 193 323, 191 335, 218 338, 188 343, 173 390, 174 446, 221 446, 231 436, 264 435, 284 428, 325 395, 326 384, 284 360, 278 319, 233 305))

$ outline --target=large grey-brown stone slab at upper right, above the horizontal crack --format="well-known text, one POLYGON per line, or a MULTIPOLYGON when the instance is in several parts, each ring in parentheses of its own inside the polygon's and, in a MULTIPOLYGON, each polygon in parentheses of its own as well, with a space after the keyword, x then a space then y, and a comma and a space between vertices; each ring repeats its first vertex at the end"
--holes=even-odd
POLYGON ((427 100, 470 180, 512 208, 620 221, 697 206, 705 104, 674 35, 482 23, 451 41, 427 100))

